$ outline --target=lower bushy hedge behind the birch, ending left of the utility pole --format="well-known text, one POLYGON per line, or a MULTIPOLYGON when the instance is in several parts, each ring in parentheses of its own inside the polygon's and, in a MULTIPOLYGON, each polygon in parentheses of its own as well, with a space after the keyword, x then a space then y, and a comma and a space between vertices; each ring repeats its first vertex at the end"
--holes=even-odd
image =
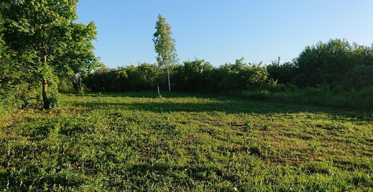
MULTIPOLYGON (((213 67, 204 60, 188 60, 170 65, 171 88, 180 91, 245 90, 260 87, 268 81, 266 68, 260 64, 244 63, 244 58, 234 64, 213 67)), ((119 67, 116 71, 89 74, 82 81, 89 89, 100 91, 132 91, 167 88, 167 71, 156 64, 141 63, 119 67)))

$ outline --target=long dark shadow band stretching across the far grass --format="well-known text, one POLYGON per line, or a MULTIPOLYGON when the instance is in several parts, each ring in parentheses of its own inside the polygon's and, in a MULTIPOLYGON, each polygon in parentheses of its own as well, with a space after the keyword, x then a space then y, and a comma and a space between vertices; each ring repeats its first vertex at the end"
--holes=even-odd
MULTIPOLYGON (((209 97, 207 97, 209 98, 209 97)), ((226 98, 226 97, 225 97, 226 98)), ((210 97, 211 99, 211 97, 210 97)), ((226 112, 226 113, 259 113, 273 115, 273 113, 330 113, 347 115, 348 112, 330 108, 317 108, 299 104, 272 103, 256 100, 219 100, 213 98, 213 102, 200 103, 177 103, 169 100, 159 102, 76 102, 73 105, 88 107, 92 109, 124 109, 132 111, 151 111, 157 113, 164 112, 226 112)))

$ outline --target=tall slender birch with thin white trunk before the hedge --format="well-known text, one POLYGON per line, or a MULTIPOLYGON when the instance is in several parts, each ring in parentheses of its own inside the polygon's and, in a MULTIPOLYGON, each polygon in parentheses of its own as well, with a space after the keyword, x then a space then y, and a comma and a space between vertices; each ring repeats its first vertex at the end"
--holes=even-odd
POLYGON ((156 32, 153 34, 154 51, 158 54, 156 57, 158 64, 167 66, 168 88, 171 93, 169 65, 178 61, 175 48, 176 40, 172 38, 171 25, 160 14, 158 14, 155 29, 156 32))

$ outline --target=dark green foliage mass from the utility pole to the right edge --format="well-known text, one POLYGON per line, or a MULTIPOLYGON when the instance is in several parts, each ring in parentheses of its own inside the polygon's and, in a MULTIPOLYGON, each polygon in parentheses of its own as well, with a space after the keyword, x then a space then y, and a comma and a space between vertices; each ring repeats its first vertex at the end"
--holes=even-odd
POLYGON ((298 87, 317 84, 343 85, 344 89, 372 86, 373 44, 350 44, 345 39, 330 39, 307 46, 292 62, 267 66, 270 78, 298 87))

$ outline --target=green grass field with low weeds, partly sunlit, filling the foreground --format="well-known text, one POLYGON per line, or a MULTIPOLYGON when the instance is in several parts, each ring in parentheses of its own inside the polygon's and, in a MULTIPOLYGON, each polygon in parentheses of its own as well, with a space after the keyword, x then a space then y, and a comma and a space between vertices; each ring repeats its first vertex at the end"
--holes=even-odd
POLYGON ((0 123, 2 191, 372 191, 373 115, 197 93, 60 94, 0 123))

